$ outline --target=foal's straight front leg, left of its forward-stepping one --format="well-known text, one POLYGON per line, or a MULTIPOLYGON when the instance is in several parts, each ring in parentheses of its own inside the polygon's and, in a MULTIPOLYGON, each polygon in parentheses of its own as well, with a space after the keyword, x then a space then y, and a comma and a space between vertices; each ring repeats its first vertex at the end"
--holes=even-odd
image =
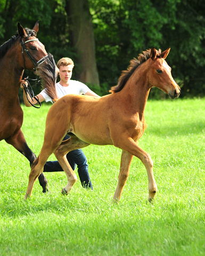
POLYGON ((132 159, 133 159, 133 155, 122 150, 120 173, 118 176, 118 186, 113 196, 113 202, 117 203, 120 200, 122 189, 124 188, 127 178, 129 176, 129 167, 132 162, 132 159))

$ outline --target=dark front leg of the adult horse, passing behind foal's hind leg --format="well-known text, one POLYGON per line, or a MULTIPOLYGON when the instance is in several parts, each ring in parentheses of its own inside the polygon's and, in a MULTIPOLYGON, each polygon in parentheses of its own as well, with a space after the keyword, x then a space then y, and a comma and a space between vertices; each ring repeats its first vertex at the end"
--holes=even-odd
MULTIPOLYGON (((30 162, 30 165, 36 159, 36 155, 28 147, 27 142, 24 138, 24 135, 23 135, 23 132, 21 131, 21 129, 17 133, 15 133, 15 135, 5 139, 5 141, 7 143, 9 143, 10 145, 12 145, 15 149, 17 149, 21 154, 26 156, 26 158, 30 162)), ((38 180, 39 180, 40 186, 42 186, 42 188, 43 188, 43 193, 46 193, 48 181, 45 178, 43 173, 39 175, 38 180)))

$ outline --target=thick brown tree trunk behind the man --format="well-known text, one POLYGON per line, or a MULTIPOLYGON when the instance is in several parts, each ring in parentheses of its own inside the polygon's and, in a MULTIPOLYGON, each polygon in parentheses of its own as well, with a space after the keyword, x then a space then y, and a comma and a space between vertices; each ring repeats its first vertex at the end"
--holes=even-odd
POLYGON ((70 39, 78 58, 76 79, 85 84, 100 86, 95 60, 95 38, 88 0, 66 0, 65 11, 69 18, 70 39))

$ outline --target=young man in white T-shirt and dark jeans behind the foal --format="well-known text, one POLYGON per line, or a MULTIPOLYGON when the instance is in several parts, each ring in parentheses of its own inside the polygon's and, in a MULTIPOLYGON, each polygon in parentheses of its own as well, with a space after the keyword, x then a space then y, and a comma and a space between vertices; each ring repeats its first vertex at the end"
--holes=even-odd
MULTIPOLYGON (((60 82, 56 83, 56 92, 58 94, 59 99, 64 95, 71 94, 71 93, 79 94, 79 95, 85 94, 93 97, 100 97, 99 95, 91 91, 87 87, 87 85, 70 79, 72 76, 72 69, 74 67, 74 63, 71 59, 69 58, 60 59, 57 63, 57 67, 59 69, 60 82)), ((27 83, 26 81, 22 80, 21 88, 23 88, 22 84, 27 84, 27 83)), ((45 89, 42 92, 40 92, 37 96, 40 102, 44 100, 46 102, 48 101, 52 102, 52 99, 48 96, 45 89)), ((26 93, 24 92, 24 90, 23 90, 23 100, 27 107, 31 107, 30 103, 27 100, 26 93)), ((29 100, 31 102, 31 99, 29 100)), ((34 98, 33 100, 34 101, 32 101, 32 103, 36 104, 37 101, 34 98)), ((65 135, 63 140, 66 140, 68 138, 69 136, 65 135)), ((67 154, 67 159, 73 170, 75 170, 76 165, 78 166, 78 174, 79 174, 79 178, 82 186, 85 188, 89 187, 93 189, 91 179, 89 178, 89 173, 88 173, 87 158, 83 153, 83 150, 76 149, 76 150, 70 151, 67 154)), ((60 166, 58 161, 48 161, 44 165, 44 172, 59 172, 59 171, 63 171, 63 169, 60 166)))

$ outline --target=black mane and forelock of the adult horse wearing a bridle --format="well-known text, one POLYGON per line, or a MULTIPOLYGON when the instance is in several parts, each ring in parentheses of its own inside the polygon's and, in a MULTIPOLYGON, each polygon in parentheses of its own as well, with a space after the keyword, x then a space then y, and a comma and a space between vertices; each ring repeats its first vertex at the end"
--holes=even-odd
MULTIPOLYGON (((36 31, 32 30, 30 28, 24 28, 24 30, 26 31, 28 37, 26 38, 26 40, 30 37, 30 36, 35 36, 36 37, 36 31)), ((18 39, 20 38, 19 34, 15 34, 14 36, 12 36, 8 41, 6 41, 5 43, 3 43, 0 46, 0 59, 3 58, 5 56, 5 54, 7 53, 7 51, 9 51, 9 49, 11 48, 11 46, 18 41, 18 39)))

